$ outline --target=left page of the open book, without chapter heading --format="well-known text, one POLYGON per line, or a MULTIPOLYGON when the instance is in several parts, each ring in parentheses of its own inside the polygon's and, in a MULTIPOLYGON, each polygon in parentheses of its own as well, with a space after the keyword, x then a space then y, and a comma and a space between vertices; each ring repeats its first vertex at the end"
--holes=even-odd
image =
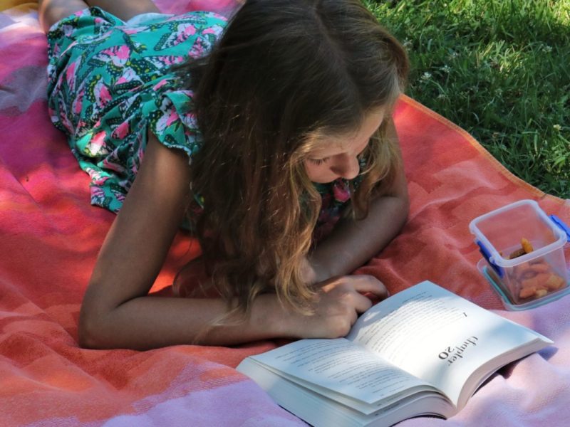
POLYGON ((426 389, 423 381, 344 338, 301 339, 251 358, 304 386, 316 384, 366 404, 415 387, 426 389))

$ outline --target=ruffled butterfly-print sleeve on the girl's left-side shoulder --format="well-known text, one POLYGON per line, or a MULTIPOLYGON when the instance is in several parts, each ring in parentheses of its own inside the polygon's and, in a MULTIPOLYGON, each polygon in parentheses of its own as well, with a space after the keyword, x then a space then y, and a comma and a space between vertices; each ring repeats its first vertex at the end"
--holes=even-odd
POLYGON ((166 147, 182 149, 190 159, 200 147, 202 138, 192 110, 191 90, 162 90, 168 85, 161 80, 143 99, 142 116, 148 130, 166 147))

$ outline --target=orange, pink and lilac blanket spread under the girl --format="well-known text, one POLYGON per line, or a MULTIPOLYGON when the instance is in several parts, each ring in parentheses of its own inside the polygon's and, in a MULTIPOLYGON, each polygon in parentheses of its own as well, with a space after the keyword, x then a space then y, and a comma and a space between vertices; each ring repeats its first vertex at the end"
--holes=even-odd
MULTIPOLYGON (((216 10, 234 0, 157 1, 163 11, 216 10)), ((89 205, 88 176, 48 119, 46 39, 36 4, 0 1, 0 426, 294 426, 233 368, 276 342, 176 346, 149 352, 77 345, 81 298, 113 214, 89 205)), ((361 272, 391 292, 429 279, 500 309, 475 268, 475 216, 534 199, 570 222, 568 202, 515 178, 457 126, 403 97, 400 133, 412 209, 393 244, 361 272)), ((195 256, 177 236, 154 291, 195 256)), ((403 426, 564 426, 570 423, 570 297, 499 312, 555 344, 499 371, 454 418, 403 426)))

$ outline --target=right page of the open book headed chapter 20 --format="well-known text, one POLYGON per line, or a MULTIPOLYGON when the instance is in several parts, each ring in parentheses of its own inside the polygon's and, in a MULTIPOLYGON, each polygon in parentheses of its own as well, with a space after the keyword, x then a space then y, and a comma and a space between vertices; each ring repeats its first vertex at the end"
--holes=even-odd
POLYGON ((545 338, 423 282, 372 307, 347 339, 424 379, 457 404, 477 368, 545 338))

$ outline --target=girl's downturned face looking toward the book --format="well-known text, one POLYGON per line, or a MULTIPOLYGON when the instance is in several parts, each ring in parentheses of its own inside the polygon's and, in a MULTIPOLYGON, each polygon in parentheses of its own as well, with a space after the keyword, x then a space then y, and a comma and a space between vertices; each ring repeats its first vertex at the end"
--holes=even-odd
POLYGON ((360 172, 358 155, 366 149, 368 141, 380 127, 384 113, 385 108, 368 113, 356 132, 322 137, 321 143, 305 160, 309 179, 324 184, 338 178, 356 178, 360 172))

